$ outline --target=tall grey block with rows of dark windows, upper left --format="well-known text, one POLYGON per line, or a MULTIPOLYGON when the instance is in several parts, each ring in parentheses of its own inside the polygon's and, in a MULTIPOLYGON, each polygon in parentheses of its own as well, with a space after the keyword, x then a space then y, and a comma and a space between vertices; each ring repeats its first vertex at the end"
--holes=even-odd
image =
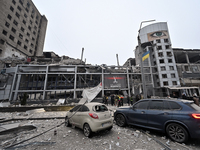
POLYGON ((31 0, 0 1, 0 57, 43 54, 47 19, 31 0))

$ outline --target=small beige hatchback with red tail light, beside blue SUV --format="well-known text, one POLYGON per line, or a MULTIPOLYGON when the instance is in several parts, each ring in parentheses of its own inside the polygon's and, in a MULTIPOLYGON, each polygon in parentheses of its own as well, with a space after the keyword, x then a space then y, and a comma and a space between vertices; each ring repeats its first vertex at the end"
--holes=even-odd
POLYGON ((110 110, 104 104, 86 103, 77 105, 67 112, 65 125, 81 128, 86 137, 91 137, 93 132, 111 130, 113 118, 110 110))

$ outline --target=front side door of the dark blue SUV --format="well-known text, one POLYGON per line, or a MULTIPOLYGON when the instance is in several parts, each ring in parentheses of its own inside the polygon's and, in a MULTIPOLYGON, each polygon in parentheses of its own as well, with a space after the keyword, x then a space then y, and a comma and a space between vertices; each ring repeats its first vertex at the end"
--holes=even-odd
POLYGON ((147 125, 147 106, 149 100, 140 100, 133 108, 129 111, 128 120, 130 124, 138 125, 138 126, 146 126, 147 125))

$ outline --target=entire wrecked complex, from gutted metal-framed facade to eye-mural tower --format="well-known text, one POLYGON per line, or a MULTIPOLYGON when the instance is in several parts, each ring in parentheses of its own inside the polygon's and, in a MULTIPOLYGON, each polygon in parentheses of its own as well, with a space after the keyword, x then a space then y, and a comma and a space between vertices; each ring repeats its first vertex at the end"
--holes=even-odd
POLYGON ((1 59, 0 99, 79 100, 82 91, 102 83, 103 95, 135 97, 199 96, 200 50, 172 48, 166 22, 140 29, 135 58, 123 66, 86 64, 82 59, 43 52, 30 59, 1 59))

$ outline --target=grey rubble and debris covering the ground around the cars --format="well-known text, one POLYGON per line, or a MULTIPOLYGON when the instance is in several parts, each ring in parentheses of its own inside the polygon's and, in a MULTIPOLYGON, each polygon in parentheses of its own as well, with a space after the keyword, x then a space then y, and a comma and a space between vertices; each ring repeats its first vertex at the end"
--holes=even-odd
MULTIPOLYGON (((116 107, 109 106, 111 110, 116 107)), ((21 132, 10 132, 0 135, 0 145, 5 148, 12 144, 25 141, 8 149, 60 149, 60 150, 164 150, 166 147, 171 150, 195 150, 200 148, 199 140, 186 144, 179 144, 171 141, 165 135, 155 131, 146 131, 137 127, 118 127, 115 123, 111 131, 95 133, 92 138, 86 138, 83 131, 77 128, 65 127, 64 117, 66 111, 46 112, 42 109, 27 112, 0 113, 2 118, 23 118, 19 121, 0 122, 0 126, 32 125, 35 129, 21 130, 21 132), (25 115, 26 114, 26 115, 25 115), (27 118, 46 118, 45 120, 27 120, 27 118), (63 117, 63 119, 56 119, 63 117), (57 127, 58 125, 61 125, 57 127), (52 129, 48 132, 47 130, 52 129), (39 135, 39 136, 37 136, 39 135), (150 135, 150 136, 149 136, 150 135), (164 147, 163 145, 166 145, 164 147)), ((0 148, 1 149, 1 148, 0 148)))

